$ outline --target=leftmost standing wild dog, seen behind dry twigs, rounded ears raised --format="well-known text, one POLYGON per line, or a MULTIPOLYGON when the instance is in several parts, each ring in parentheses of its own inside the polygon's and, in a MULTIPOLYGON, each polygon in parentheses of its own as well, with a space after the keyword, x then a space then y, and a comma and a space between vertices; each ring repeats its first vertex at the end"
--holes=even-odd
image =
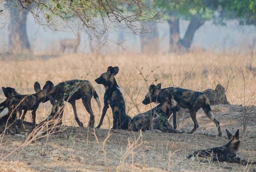
MULTIPOLYGON (((32 110, 32 124, 33 127, 36 125, 36 110, 41 102, 43 102, 46 98, 46 94, 52 89, 52 86, 46 83, 41 90, 41 86, 38 82, 34 84, 35 94, 28 95, 15 95, 7 98, 4 102, 0 104, 0 108, 6 110, 8 108, 8 114, 16 115, 14 120, 14 124, 16 127, 16 132, 18 132, 18 122, 20 119, 20 115, 22 114, 22 110, 32 110), (12 113, 12 111, 14 112, 12 113)), ((26 114, 24 112, 24 114, 26 114)), ((22 116, 23 118, 23 116, 22 116)))

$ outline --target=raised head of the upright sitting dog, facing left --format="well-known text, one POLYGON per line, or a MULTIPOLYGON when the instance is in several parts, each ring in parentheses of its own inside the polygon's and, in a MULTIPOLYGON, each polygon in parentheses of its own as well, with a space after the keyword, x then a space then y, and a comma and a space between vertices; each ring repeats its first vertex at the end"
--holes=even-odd
POLYGON ((109 66, 107 72, 101 74, 95 82, 97 82, 97 84, 103 84, 104 86, 111 86, 115 82, 114 76, 118 74, 118 71, 119 68, 117 66, 109 66))

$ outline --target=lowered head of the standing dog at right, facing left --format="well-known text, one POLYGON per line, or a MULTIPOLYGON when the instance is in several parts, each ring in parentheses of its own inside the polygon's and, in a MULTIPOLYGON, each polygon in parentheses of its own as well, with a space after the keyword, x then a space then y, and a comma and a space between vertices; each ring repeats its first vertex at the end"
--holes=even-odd
POLYGON ((144 100, 142 100, 143 104, 150 104, 151 102, 160 102, 158 98, 158 94, 161 90, 161 83, 156 86, 152 84, 148 88, 148 93, 146 94, 144 100))

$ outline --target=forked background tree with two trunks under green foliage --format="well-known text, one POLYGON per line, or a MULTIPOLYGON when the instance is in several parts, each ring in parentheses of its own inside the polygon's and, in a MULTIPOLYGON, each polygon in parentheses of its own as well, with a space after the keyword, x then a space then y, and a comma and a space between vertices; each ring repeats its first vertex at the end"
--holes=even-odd
POLYGON ((180 49, 188 50, 192 44, 194 34, 206 20, 216 18, 217 0, 156 0, 156 7, 164 14, 170 26, 169 52, 180 49), (180 20, 188 20, 188 28, 183 38, 180 37, 180 20))

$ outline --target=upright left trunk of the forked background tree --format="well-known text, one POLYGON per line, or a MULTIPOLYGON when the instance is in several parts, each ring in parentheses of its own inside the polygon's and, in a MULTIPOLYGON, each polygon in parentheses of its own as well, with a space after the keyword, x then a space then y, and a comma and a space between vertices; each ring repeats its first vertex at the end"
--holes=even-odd
POLYGON ((167 22, 170 26, 169 52, 178 52, 180 50, 180 19, 171 16, 167 22))

